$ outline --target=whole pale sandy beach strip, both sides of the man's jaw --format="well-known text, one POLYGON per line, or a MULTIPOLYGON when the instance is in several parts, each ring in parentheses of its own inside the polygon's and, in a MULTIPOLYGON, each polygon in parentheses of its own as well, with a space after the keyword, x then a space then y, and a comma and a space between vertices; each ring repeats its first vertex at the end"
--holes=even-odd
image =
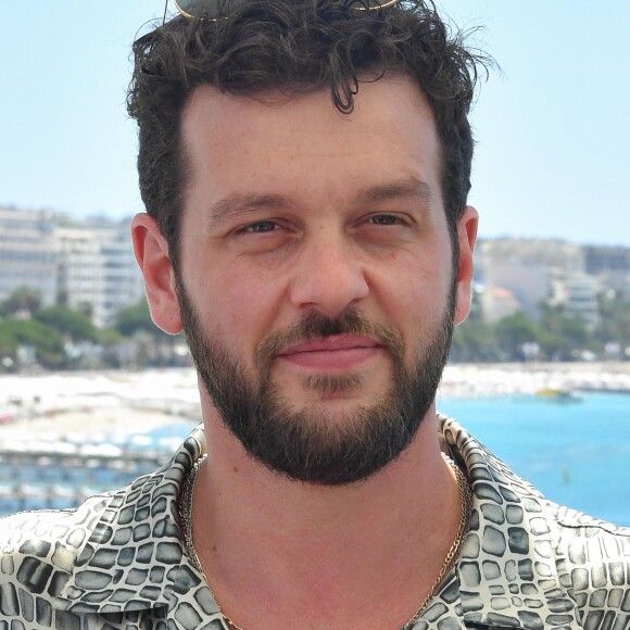
MULTIPOLYGON (((630 392, 630 363, 449 365, 440 396, 630 392)), ((0 448, 32 439, 90 441, 200 419, 192 368, 0 376, 0 448)))

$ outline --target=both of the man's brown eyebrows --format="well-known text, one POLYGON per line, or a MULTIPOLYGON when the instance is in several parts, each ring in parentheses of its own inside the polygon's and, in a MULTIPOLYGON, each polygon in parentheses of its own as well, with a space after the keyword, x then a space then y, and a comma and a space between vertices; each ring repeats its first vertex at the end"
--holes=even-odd
MULTIPOLYGON (((425 203, 430 203, 433 196, 430 186, 416 177, 370 186, 361 190, 357 196, 361 203, 400 198, 417 198, 425 203)), ((282 211, 294 207, 294 204, 281 194, 236 193, 213 203, 210 206, 209 217, 212 223, 222 223, 243 212, 268 209, 282 211)))

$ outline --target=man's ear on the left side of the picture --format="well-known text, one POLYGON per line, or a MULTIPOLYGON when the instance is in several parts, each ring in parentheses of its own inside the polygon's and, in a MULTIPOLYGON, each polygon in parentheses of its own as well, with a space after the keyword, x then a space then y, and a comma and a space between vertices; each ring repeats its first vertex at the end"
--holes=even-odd
POLYGON ((144 276, 151 318, 164 332, 169 335, 181 332, 168 243, 160 232, 155 219, 147 213, 137 214, 131 220, 131 239, 136 260, 144 276))

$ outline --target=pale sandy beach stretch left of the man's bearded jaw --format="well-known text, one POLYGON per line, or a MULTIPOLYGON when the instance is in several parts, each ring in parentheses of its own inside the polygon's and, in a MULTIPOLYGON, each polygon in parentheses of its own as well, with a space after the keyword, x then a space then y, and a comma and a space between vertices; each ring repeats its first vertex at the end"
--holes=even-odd
POLYGON ((0 449, 24 440, 98 442, 200 419, 194 371, 86 371, 0 377, 0 449))

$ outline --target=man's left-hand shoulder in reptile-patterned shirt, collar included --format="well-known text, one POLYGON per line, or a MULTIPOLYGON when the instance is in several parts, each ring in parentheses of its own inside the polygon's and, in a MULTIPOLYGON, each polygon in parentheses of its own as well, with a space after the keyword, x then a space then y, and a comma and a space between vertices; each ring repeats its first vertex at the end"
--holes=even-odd
POLYGON ((28 628, 83 628, 84 615, 100 628, 101 613, 153 619, 180 579, 177 500, 202 439, 196 429, 164 466, 76 509, 0 519, 0 618, 16 628, 34 612, 28 628))

